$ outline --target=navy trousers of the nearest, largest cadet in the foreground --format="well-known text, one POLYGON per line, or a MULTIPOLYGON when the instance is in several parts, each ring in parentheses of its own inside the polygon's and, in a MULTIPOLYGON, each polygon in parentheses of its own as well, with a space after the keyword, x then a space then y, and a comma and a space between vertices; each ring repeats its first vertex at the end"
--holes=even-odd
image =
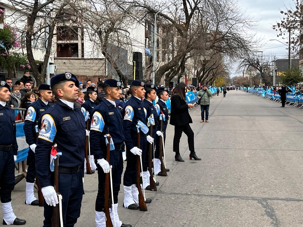
MULTIPOLYGON (((75 174, 59 173, 59 192, 62 195, 62 216, 64 227, 73 227, 80 217, 83 196, 83 171, 75 174)), ((44 200, 43 226, 52 226, 53 206, 48 206, 44 200)))

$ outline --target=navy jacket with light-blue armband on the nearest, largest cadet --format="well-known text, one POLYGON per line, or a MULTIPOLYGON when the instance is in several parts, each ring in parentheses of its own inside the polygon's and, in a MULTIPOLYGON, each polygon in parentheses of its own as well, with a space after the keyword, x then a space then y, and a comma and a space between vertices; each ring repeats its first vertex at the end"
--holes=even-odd
POLYGON ((85 120, 81 110, 68 107, 60 99, 50 107, 38 122, 40 133, 35 149, 36 170, 41 187, 52 185, 50 174, 50 152, 54 143, 62 152, 59 165, 77 167, 83 165, 85 146, 85 120))

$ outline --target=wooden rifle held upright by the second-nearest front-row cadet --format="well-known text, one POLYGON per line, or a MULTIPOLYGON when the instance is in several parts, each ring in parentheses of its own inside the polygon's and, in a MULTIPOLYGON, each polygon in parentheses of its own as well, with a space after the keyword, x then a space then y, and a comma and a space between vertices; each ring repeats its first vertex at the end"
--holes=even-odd
MULTIPOLYGON (((106 145, 106 161, 109 164, 110 161, 110 146, 111 146, 111 136, 109 135, 109 128, 107 129, 107 141, 108 144, 106 145)), ((106 227, 113 227, 112 224, 112 219, 111 216, 109 214, 109 208, 112 208, 112 204, 114 201, 112 201, 111 196, 109 196, 109 173, 105 173, 105 185, 104 185, 104 213, 105 213, 105 217, 106 217, 106 227)))

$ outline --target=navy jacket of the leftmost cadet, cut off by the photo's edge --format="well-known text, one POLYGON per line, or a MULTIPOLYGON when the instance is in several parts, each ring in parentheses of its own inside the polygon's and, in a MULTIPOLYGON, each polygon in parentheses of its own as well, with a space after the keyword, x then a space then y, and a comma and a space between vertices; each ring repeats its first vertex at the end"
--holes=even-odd
POLYGON ((17 155, 15 113, 7 104, 0 105, 0 145, 12 145, 14 155, 17 155))

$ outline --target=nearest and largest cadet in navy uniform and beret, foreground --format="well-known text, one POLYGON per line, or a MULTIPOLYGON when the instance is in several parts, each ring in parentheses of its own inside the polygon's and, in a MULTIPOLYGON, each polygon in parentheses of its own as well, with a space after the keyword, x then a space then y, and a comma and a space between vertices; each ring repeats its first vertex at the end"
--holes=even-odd
POLYGON ((63 225, 74 226, 80 216, 84 181, 85 120, 81 110, 74 106, 74 101, 78 100, 78 86, 78 79, 71 73, 53 76, 51 87, 57 102, 39 119, 41 128, 35 158, 37 176, 45 199, 45 227, 52 226, 52 206, 58 204, 50 170, 50 152, 54 143, 57 143, 56 150, 62 152, 59 158, 58 189, 63 197, 63 225))

